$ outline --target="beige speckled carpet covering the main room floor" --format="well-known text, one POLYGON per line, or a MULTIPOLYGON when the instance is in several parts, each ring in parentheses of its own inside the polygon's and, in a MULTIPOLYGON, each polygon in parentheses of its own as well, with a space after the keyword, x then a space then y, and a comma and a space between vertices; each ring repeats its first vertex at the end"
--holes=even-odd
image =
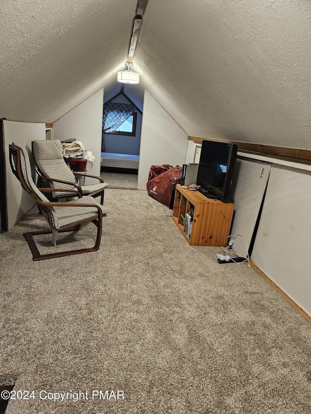
POLYGON ((36 208, 0 234, 0 385, 34 390, 7 414, 310 414, 306 320, 246 264, 190 247, 145 191, 105 204, 95 253, 33 262, 36 208))

